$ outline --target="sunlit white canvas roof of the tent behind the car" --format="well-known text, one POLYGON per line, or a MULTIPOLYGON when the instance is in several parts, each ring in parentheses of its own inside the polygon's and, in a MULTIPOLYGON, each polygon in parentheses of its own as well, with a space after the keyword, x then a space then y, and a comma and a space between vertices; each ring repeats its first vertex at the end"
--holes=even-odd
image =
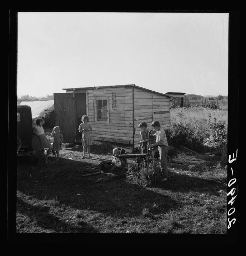
POLYGON ((42 118, 45 114, 50 115, 54 111, 54 100, 50 101, 22 101, 20 105, 31 107, 32 118, 34 120, 42 118))

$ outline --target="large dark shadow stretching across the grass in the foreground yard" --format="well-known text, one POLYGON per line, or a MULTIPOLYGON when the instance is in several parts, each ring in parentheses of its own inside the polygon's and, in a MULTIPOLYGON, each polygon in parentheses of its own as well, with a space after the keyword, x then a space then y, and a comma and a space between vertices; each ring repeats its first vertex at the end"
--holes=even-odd
MULTIPOLYGON (((28 169, 26 163, 22 166, 20 164, 17 190, 38 200, 52 200, 56 197, 60 204, 117 218, 140 216, 146 206, 153 208, 154 211, 154 207, 151 206, 156 202, 161 212, 176 208, 177 203, 168 194, 156 193, 137 184, 131 184, 127 179, 95 183, 99 178, 111 177, 112 174, 106 172, 83 177, 85 172, 76 169, 76 166, 91 164, 84 160, 82 162, 61 158, 59 162, 49 165, 44 165, 40 161, 32 169, 28 169)), ((100 163, 100 160, 96 163, 100 163)))

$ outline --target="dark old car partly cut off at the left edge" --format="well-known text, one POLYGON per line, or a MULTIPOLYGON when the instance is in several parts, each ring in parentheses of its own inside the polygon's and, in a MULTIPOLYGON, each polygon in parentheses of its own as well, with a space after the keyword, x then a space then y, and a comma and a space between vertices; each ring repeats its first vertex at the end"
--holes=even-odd
POLYGON ((32 140, 36 139, 32 134, 32 113, 31 107, 17 105, 17 156, 32 156, 38 160, 42 150, 32 150, 32 140))

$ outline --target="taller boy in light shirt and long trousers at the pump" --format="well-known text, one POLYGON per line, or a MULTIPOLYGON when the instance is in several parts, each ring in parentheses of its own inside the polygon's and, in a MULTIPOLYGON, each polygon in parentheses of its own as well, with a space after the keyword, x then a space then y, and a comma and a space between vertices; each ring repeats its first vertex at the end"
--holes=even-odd
POLYGON ((151 126, 156 131, 155 132, 156 143, 147 145, 147 148, 158 146, 158 151, 160 154, 160 167, 163 170, 162 181, 166 181, 168 178, 167 153, 169 149, 169 145, 167 143, 167 137, 166 137, 165 131, 161 128, 160 123, 158 121, 152 122, 151 126))

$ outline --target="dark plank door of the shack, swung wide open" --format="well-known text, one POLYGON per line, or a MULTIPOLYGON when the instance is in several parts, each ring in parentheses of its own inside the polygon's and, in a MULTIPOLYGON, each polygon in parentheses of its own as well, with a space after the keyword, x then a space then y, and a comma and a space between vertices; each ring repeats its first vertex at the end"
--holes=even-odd
POLYGON ((74 93, 54 93, 55 125, 60 127, 64 143, 76 141, 74 93))

